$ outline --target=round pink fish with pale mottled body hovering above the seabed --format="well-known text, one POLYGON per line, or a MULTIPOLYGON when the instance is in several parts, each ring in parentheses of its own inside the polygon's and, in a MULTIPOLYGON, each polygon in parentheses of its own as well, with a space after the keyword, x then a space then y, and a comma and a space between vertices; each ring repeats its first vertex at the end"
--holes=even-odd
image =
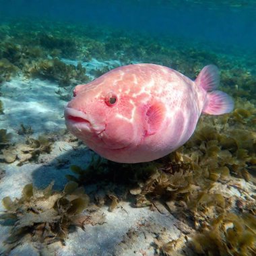
POLYGON ((219 81, 214 65, 204 67, 195 81, 161 65, 118 67, 75 87, 65 108, 66 125, 109 160, 155 160, 191 137, 201 113, 232 111, 232 98, 216 90, 219 81))

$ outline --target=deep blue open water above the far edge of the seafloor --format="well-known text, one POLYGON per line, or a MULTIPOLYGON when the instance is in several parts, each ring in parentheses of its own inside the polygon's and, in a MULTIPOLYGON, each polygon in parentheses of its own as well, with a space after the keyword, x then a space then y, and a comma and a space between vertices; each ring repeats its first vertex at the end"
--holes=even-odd
POLYGON ((2 19, 107 25, 159 37, 174 34, 241 51, 256 49, 255 1, 1 0, 0 4, 2 19))

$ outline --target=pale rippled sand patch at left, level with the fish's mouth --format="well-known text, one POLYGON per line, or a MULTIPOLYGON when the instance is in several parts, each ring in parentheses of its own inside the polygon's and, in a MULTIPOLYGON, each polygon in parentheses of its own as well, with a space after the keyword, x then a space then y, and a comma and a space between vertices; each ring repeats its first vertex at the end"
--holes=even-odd
POLYGON ((0 129, 7 129, 14 137, 20 124, 31 126, 34 135, 65 128, 63 108, 57 84, 40 79, 17 77, 2 85, 0 100, 5 115, 0 115, 0 129))

